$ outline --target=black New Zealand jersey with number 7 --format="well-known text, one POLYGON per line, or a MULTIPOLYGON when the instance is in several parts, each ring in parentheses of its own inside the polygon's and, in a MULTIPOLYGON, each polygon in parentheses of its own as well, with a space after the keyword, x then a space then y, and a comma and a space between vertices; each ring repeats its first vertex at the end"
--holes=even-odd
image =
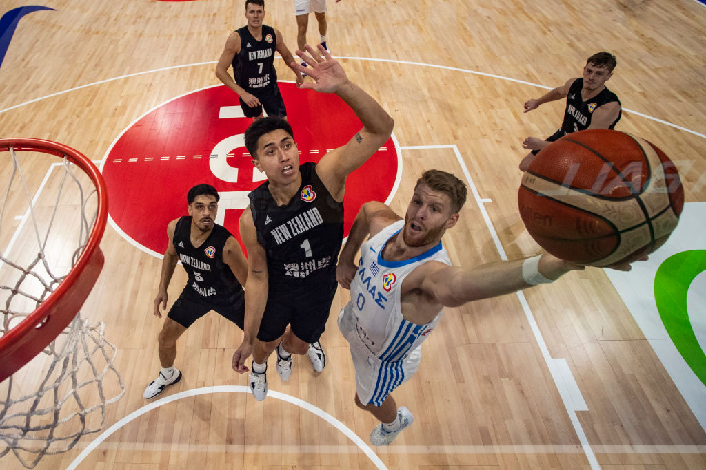
POLYGON ((273 65, 277 50, 275 28, 263 25, 260 41, 250 34, 247 26, 235 32, 240 35, 240 52, 233 57, 235 82, 253 94, 266 87, 276 87, 277 71, 273 65))

